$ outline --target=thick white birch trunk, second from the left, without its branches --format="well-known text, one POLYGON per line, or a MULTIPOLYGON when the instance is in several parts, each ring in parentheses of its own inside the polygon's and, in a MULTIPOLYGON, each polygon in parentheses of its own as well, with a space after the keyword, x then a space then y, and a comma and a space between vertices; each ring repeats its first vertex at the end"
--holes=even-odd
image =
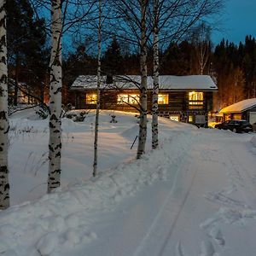
POLYGON ((61 0, 51 2, 48 192, 61 185, 61 0))

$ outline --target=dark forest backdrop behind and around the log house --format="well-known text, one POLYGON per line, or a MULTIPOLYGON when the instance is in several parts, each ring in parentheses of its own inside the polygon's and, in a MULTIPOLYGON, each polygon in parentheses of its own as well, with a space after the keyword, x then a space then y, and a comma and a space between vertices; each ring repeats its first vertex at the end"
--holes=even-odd
MULTIPOLYGON (((44 102, 49 91, 49 36, 44 18, 38 18, 29 1, 9 1, 8 55, 9 103, 17 105, 18 90, 28 101, 44 102), (18 3, 19 2, 19 3, 18 3), (14 18, 15 17, 15 18, 14 18), (23 92, 23 93, 22 93, 23 92)), ((256 43, 248 35, 236 45, 223 39, 211 41, 212 27, 203 21, 179 40, 167 39, 160 49, 160 74, 209 74, 218 84, 214 110, 256 96, 256 43)), ((139 74, 139 50, 118 36, 106 36, 102 50, 102 74, 139 74)), ((70 100, 69 87, 82 74, 96 74, 95 38, 64 39, 62 103, 70 100), (67 42, 65 42, 65 40, 67 42)), ((154 51, 148 44, 148 75, 153 75, 154 51)))

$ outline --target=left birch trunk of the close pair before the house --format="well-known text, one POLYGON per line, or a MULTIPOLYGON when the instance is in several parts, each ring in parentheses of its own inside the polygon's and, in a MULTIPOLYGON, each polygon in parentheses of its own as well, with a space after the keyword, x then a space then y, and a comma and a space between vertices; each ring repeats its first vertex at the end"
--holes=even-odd
POLYGON ((147 36, 146 36, 146 15, 147 15, 148 0, 141 1, 141 42, 140 42, 140 66, 141 66, 141 86, 140 86, 140 126, 137 147, 137 159, 140 159, 145 152, 147 139, 147 91, 148 91, 148 77, 147 77, 147 36))

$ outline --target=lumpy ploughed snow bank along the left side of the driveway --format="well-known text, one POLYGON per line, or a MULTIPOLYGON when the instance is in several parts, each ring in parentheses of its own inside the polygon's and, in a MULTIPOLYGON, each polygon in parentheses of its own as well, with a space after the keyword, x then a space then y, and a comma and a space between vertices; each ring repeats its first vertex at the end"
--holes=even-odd
MULTIPOLYGON (((129 122, 131 124, 131 120, 129 122)), ((123 122, 115 125, 119 128, 113 126, 112 129, 122 131, 123 122)), ((0 212, 0 254, 58 255, 60 249, 95 240, 96 233, 89 226, 97 212, 112 211, 119 201, 135 195, 143 186, 165 180, 172 171, 171 166, 183 160, 194 140, 191 132, 197 130, 190 125, 181 130, 181 125, 177 124, 177 129, 170 132, 170 126, 172 122, 169 122, 169 135, 162 148, 145 155, 142 160, 120 164, 115 169, 100 172, 99 177, 80 181, 66 189, 56 189, 55 193, 44 195, 38 201, 0 212)), ((78 127, 82 129, 86 125, 78 127)), ((137 127, 133 123, 124 131, 124 136, 132 137, 134 131, 137 127)))

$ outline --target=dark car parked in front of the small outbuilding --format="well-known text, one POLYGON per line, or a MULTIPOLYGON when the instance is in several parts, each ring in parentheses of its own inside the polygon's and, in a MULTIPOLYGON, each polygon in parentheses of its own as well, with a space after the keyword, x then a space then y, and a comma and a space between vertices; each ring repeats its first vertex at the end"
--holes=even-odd
POLYGON ((215 128, 234 132, 253 131, 253 126, 247 120, 228 120, 222 124, 215 125, 215 128))

